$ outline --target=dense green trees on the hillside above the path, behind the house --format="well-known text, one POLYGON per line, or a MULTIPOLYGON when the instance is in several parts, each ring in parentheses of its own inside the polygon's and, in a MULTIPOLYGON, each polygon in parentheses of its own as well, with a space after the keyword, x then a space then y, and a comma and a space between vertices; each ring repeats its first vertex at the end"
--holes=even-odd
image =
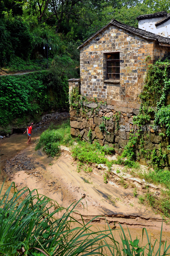
MULTIPOLYGON (((52 47, 51 56, 68 46, 76 49, 112 18, 137 27, 138 15, 169 10, 166 0, 1 0, 0 65, 6 67, 15 56, 46 57, 45 44, 52 47)), ((67 52, 76 59, 77 50, 67 52)))

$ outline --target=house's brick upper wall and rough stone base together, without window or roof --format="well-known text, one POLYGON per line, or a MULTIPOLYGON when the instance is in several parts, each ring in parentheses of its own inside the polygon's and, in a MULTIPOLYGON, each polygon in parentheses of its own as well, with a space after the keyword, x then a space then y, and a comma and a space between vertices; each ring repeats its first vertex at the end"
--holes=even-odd
MULTIPOLYGON (((140 109, 139 95, 145 82, 148 60, 153 63, 170 52, 170 47, 159 45, 142 37, 110 26, 101 34, 91 39, 80 49, 80 81, 69 80, 69 91, 77 87, 82 96, 97 98, 97 101, 105 102, 105 105, 92 102, 84 102, 85 108, 79 113, 70 109, 71 134, 74 137, 80 135, 82 140, 89 140, 88 133, 92 130, 92 140, 99 141, 101 145, 113 146, 117 153, 121 153, 128 143, 130 130, 133 125, 133 117, 138 115, 140 109), (120 80, 106 80, 106 54, 120 52, 120 80), (150 58, 146 61, 147 57, 150 58), (120 112, 117 129, 115 115, 120 112), (105 120, 105 117, 110 117, 105 120), (107 132, 101 132, 99 125, 104 122, 107 132)), ((159 143, 166 147, 167 141, 163 141, 158 135, 161 130, 154 132, 147 124, 143 130, 144 144, 135 146, 136 158, 141 164, 146 164, 141 147, 146 149, 158 149, 159 143)), ((167 151, 166 163, 170 165, 170 154, 167 151)))

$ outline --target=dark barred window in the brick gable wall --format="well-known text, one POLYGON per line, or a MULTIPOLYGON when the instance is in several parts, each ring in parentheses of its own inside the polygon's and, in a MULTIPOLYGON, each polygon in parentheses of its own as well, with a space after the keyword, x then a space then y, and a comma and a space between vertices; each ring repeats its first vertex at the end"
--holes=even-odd
POLYGON ((120 54, 109 53, 106 55, 106 79, 119 80, 120 79, 120 54))

